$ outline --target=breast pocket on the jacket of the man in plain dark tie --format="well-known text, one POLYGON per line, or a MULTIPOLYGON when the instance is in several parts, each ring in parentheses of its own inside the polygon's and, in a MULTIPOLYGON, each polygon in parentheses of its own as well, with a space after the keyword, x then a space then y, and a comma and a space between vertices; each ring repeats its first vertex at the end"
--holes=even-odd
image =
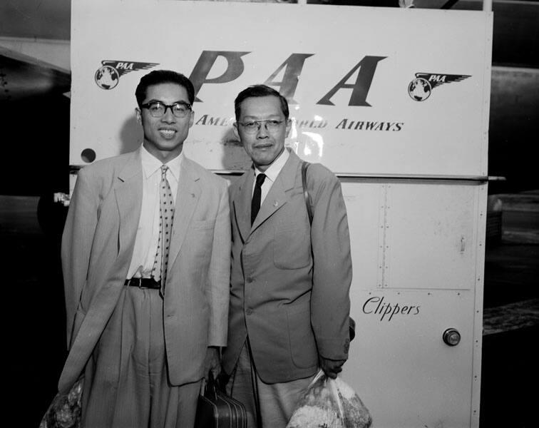
POLYGON ((299 269, 311 261, 311 235, 301 223, 276 228, 273 262, 280 269, 299 269))

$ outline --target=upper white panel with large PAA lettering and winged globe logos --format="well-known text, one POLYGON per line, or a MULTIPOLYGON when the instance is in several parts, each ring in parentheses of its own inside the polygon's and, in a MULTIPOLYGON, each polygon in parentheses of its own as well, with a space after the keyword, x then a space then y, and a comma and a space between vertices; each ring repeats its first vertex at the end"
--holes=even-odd
POLYGON ((70 163, 84 165, 85 149, 100 159, 136 148, 135 87, 166 68, 193 81, 185 151, 212 170, 250 165, 234 99, 265 83, 289 101, 287 144, 307 161, 342 174, 487 175, 491 25, 470 11, 77 1, 70 163))

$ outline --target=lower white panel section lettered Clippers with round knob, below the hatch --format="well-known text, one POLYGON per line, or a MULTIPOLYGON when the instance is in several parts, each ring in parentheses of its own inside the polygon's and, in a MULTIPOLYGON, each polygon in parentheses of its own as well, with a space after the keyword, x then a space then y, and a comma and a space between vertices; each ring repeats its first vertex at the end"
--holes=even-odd
POLYGON ((470 426, 473 305, 469 290, 361 290, 352 295, 356 337, 342 379, 369 408, 374 427, 470 426), (382 297, 381 302, 369 300, 382 297), (413 309, 391 317, 384 315, 388 305, 391 312, 397 305, 413 309), (449 327, 461 333, 456 347, 442 341, 449 327))

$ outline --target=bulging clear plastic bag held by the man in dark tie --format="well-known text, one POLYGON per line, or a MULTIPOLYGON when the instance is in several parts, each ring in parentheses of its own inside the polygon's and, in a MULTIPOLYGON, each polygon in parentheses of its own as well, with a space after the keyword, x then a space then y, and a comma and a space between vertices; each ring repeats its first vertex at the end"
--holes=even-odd
POLYGON ((322 370, 299 400, 287 428, 369 428, 371 414, 354 389, 322 370))

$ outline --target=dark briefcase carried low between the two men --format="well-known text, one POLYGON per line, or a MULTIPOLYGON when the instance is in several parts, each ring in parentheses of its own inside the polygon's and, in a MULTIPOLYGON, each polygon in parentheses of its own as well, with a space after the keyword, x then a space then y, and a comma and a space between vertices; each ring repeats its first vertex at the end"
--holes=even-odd
POLYGON ((217 388, 210 379, 198 397, 195 428, 247 428, 247 413, 242 403, 217 388))

